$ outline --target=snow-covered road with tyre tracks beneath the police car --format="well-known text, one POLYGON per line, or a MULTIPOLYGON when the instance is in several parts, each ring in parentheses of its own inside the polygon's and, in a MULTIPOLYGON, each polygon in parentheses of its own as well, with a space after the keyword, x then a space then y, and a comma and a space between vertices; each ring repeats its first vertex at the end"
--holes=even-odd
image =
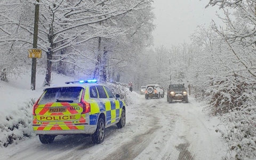
POLYGON ((167 103, 166 98, 126 107, 126 126, 106 129, 105 140, 91 143, 83 135, 58 136, 45 145, 38 137, 1 148, 0 159, 221 159, 219 133, 193 98, 167 103))

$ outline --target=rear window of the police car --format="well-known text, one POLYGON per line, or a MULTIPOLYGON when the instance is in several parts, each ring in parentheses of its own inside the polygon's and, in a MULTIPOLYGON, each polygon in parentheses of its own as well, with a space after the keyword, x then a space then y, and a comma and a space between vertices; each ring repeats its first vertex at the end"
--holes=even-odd
POLYGON ((82 87, 58 87, 45 89, 45 92, 38 104, 42 105, 50 102, 79 103, 82 91, 82 87))

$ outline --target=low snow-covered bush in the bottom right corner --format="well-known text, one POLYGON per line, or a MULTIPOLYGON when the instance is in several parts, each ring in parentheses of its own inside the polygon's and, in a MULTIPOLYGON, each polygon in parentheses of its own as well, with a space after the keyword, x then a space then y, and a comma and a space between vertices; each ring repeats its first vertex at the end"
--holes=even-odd
POLYGON ((230 155, 226 159, 256 159, 256 107, 236 107, 221 117, 225 129, 219 130, 228 143, 230 155))

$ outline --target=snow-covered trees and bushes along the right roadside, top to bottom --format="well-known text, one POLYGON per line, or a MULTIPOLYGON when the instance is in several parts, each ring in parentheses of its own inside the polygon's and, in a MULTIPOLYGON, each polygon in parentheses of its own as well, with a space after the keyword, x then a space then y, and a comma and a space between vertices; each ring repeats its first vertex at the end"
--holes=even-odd
POLYGON ((222 115, 226 130, 220 132, 229 151, 235 152, 234 157, 230 154, 225 158, 255 159, 256 2, 210 0, 210 5, 223 11, 224 16, 219 18, 224 25, 212 26, 219 41, 207 54, 214 54, 211 64, 218 68, 218 73, 211 75, 206 89, 210 102, 207 108, 212 114, 222 115))

